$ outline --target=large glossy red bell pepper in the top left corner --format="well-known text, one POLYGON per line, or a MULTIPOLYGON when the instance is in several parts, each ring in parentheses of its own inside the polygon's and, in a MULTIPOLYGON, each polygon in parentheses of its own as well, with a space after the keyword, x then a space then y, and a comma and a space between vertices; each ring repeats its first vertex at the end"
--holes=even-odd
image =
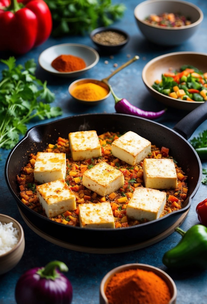
POLYGON ((11 5, 7 4, 8 0, 0 0, 0 50, 25 54, 48 39, 52 16, 43 0, 11 0, 11 5))

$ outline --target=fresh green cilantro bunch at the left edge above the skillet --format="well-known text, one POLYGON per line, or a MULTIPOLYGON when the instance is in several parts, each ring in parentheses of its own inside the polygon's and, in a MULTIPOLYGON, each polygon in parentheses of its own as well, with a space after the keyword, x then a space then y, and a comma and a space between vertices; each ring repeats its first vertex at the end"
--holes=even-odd
POLYGON ((7 65, 0 81, 0 148, 11 149, 19 141, 19 135, 27 131, 26 123, 32 118, 56 117, 62 114, 59 107, 50 107, 55 98, 34 75, 36 64, 33 59, 22 65, 15 58, 1 60, 7 65))

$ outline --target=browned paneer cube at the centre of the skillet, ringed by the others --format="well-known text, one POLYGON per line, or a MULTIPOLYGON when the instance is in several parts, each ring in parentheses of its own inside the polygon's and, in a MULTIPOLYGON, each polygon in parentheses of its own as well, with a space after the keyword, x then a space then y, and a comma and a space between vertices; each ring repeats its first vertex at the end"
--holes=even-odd
POLYGON ((83 173, 82 181, 85 187, 106 196, 124 185, 124 175, 105 161, 101 161, 83 173))

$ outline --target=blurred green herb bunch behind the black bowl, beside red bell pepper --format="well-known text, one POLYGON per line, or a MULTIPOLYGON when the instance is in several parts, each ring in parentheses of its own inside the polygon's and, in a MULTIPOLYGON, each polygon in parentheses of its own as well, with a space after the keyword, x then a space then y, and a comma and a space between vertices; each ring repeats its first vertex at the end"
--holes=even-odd
POLYGON ((52 13, 53 36, 77 35, 109 26, 124 14, 125 5, 111 0, 45 0, 52 13))

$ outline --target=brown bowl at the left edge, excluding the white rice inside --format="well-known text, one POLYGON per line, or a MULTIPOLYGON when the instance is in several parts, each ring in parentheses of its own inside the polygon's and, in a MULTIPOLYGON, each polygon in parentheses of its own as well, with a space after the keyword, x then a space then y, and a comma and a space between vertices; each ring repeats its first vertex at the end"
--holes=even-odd
POLYGON ((13 227, 18 230, 18 243, 5 254, 0 255, 0 275, 8 272, 16 266, 22 258, 25 249, 24 231, 22 226, 12 217, 5 214, 0 214, 1 223, 13 223, 13 227))

